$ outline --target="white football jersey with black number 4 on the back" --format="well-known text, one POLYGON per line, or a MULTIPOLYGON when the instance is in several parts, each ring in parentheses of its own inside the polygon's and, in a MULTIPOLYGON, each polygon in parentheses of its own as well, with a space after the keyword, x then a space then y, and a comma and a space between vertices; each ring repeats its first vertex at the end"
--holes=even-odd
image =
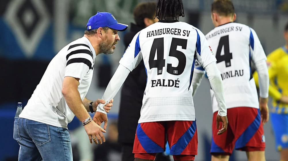
MULTIPOLYGON (((227 109, 259 108, 251 61, 265 60, 266 55, 256 32, 244 24, 230 22, 211 30, 206 34, 206 39, 221 72, 227 109)), ((210 91, 213 112, 216 112, 217 102, 214 92, 210 91)))

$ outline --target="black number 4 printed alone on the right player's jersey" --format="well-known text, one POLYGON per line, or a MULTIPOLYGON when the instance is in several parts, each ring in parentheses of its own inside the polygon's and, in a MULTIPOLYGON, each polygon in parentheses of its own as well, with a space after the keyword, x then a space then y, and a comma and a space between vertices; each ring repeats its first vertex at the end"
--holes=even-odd
POLYGON ((229 35, 223 36, 219 40, 219 45, 216 52, 217 63, 225 61, 226 67, 231 66, 232 53, 229 48, 229 35), (221 55, 221 50, 224 46, 224 55, 221 55))

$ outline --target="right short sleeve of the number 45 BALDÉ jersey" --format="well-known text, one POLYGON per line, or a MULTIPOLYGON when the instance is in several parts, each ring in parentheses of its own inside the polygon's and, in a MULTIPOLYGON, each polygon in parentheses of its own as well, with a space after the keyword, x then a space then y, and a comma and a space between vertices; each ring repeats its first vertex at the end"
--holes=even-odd
MULTIPOLYGON (((216 62, 217 60, 213 54, 211 47, 208 44, 205 35, 200 30, 195 30, 197 32, 196 58, 200 65, 205 68, 208 64, 210 64, 211 62, 216 62)), ((199 69, 200 68, 201 67, 199 67, 199 69)))

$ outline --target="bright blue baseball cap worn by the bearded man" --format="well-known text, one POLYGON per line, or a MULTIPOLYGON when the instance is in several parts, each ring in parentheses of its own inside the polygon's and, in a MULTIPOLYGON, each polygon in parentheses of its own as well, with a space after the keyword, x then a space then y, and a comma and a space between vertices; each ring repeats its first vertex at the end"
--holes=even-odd
POLYGON ((86 25, 87 30, 94 30, 99 27, 109 27, 114 30, 124 31, 128 25, 118 23, 116 18, 109 12, 97 12, 96 15, 89 18, 86 25))

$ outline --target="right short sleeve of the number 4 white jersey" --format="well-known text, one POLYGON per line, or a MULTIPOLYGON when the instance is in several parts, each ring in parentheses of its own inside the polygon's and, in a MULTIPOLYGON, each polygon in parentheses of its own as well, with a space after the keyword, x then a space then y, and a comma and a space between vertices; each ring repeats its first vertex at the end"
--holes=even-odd
POLYGON ((254 63, 260 60, 266 60, 266 55, 263 50, 263 47, 260 43, 260 40, 256 34, 256 32, 250 28, 250 37, 249 37, 249 44, 250 44, 250 51, 251 51, 251 58, 254 63))

